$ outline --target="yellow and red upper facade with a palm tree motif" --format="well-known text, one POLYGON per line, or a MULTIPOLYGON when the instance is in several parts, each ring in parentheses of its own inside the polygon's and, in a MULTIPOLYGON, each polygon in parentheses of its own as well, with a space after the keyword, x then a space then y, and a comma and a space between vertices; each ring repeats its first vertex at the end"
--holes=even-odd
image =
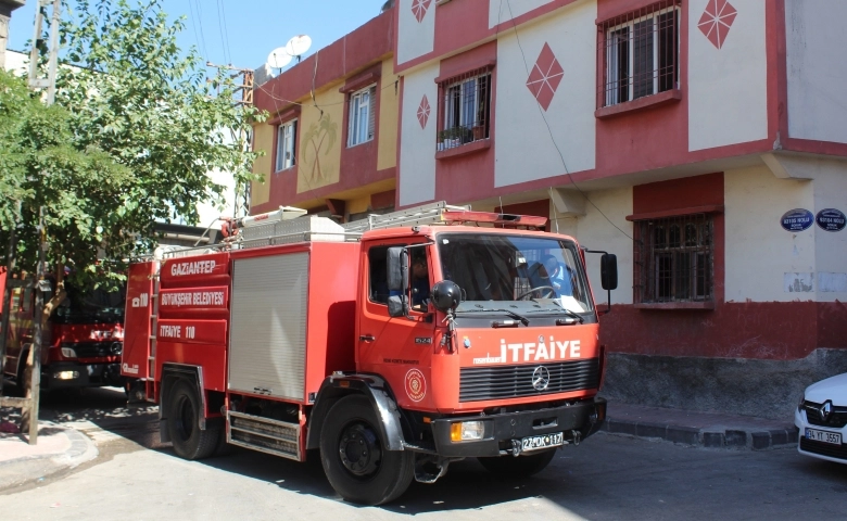
POLYGON ((388 9, 255 89, 270 118, 254 127, 265 155, 251 213, 292 205, 343 220, 394 209, 393 15, 388 9))

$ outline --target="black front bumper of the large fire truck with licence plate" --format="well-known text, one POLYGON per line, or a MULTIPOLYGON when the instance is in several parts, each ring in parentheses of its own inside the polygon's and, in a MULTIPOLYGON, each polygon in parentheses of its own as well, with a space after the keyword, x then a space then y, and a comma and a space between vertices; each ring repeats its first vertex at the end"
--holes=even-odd
POLYGON ((530 436, 561 432, 566 443, 578 443, 595 433, 605 419, 606 399, 595 397, 547 409, 441 418, 432 420, 432 432, 441 457, 492 457, 514 454, 515 447, 530 436), (482 439, 452 441, 451 425, 462 421, 481 421, 482 439))

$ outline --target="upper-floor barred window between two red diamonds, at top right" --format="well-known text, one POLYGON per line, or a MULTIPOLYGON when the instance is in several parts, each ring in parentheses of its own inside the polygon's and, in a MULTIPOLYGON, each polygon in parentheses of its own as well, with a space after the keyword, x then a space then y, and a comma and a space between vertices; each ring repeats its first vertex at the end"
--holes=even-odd
POLYGON ((678 88, 679 20, 679 0, 666 0, 601 26, 604 106, 678 88))

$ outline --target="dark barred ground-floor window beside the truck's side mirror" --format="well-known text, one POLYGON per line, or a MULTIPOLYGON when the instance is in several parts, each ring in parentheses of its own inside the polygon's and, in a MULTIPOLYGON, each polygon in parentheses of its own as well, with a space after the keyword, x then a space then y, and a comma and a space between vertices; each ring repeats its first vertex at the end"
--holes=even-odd
POLYGON ((636 221, 641 270, 636 302, 711 301, 713 219, 691 215, 636 221))

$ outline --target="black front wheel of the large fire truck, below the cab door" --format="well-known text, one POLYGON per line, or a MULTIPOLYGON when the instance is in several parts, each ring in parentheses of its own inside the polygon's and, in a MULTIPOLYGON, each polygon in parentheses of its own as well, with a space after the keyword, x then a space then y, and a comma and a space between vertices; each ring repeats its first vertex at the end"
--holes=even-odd
POLYGON ((382 505, 400 497, 415 473, 415 455, 388 450, 374 406, 362 395, 341 398, 320 431, 320 462, 341 497, 382 505))

